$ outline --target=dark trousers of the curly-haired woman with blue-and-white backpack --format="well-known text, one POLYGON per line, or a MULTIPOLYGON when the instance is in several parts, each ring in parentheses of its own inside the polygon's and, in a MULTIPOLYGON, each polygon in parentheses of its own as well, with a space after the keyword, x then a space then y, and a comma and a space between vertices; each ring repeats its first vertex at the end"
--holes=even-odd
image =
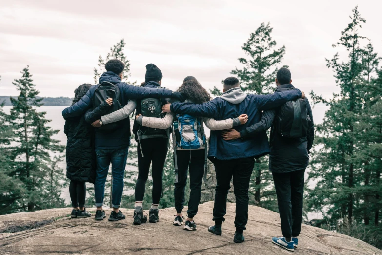
POLYGON ((187 171, 190 168, 190 199, 188 201, 187 215, 193 218, 198 212, 201 201, 201 183, 204 175, 204 149, 176 150, 178 163, 178 183, 175 183, 174 197, 175 209, 181 213, 184 204, 184 191, 187 184, 187 171), (190 159, 191 154, 191 159, 190 159))

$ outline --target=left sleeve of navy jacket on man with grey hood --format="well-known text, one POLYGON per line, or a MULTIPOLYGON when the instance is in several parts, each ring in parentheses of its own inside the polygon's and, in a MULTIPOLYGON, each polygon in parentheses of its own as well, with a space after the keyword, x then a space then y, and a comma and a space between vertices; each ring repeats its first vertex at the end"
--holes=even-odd
POLYGON ((201 116, 209 118, 217 118, 219 109, 219 98, 215 98, 203 104, 180 103, 171 104, 171 111, 174 113, 189 114, 192 116, 201 116))

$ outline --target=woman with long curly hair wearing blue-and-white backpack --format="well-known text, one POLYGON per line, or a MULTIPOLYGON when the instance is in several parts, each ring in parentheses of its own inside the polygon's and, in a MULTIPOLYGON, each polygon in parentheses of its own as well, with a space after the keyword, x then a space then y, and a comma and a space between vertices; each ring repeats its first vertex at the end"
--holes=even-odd
MULTIPOLYGON (((193 76, 187 76, 183 80, 183 84, 178 88, 186 98, 186 102, 193 102, 202 104, 210 100, 210 94, 205 90, 201 84, 193 76)), ((173 125, 174 121, 177 124, 177 117, 173 113, 168 113, 164 118, 150 118, 142 115, 137 115, 137 122, 145 127, 166 129, 173 125)), ((247 122, 247 116, 241 115, 235 119, 226 119, 216 121, 212 118, 197 117, 198 136, 201 135, 201 140, 204 136, 203 123, 211 130, 224 130, 232 128, 233 126, 241 125, 247 122)), ((175 128, 176 129, 176 128, 175 128)), ((207 162, 206 152, 207 146, 202 145, 198 149, 187 149, 180 147, 180 135, 178 130, 173 132, 173 148, 174 148, 174 164, 175 169, 178 170, 178 181, 175 182, 174 196, 175 196, 175 209, 177 215, 174 219, 174 226, 181 226, 183 224, 183 205, 184 205, 184 192, 187 183, 187 172, 190 170, 190 199, 188 201, 187 219, 184 225, 185 230, 196 230, 197 226, 194 217, 198 212, 198 206, 201 199, 201 184, 204 175, 205 164, 207 162), (178 143, 177 143, 178 141, 178 143)))

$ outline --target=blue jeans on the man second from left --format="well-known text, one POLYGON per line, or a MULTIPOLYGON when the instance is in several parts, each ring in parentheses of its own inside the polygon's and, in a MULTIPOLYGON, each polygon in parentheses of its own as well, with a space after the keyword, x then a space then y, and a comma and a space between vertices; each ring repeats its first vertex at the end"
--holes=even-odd
POLYGON ((111 194, 111 205, 119 208, 123 192, 123 176, 126 167, 127 154, 129 147, 123 149, 96 149, 97 170, 96 181, 94 183, 94 194, 96 206, 103 206, 105 197, 105 182, 111 163, 111 173, 113 176, 113 192, 111 194))

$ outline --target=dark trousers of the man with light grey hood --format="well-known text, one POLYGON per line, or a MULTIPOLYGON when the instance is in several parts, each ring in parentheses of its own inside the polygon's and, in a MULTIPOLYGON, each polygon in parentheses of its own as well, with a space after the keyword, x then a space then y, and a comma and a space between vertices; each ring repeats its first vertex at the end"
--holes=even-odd
POLYGON ((233 179, 234 194, 236 198, 235 227, 245 230, 248 221, 248 189, 249 181, 255 160, 253 157, 232 160, 216 160, 214 162, 216 172, 215 204, 213 219, 224 221, 227 212, 227 195, 233 179))

